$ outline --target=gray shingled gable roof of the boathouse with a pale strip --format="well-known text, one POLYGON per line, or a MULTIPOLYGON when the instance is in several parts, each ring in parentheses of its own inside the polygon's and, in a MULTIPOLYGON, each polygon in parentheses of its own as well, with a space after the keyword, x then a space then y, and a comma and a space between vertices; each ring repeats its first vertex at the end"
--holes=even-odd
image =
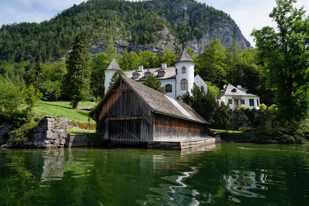
POLYGON ((109 94, 112 92, 113 88, 120 83, 121 79, 133 90, 136 95, 138 95, 140 99, 142 99, 142 101, 150 108, 152 112, 160 113, 167 116, 175 116, 177 118, 203 124, 209 124, 189 105, 171 97, 168 97, 167 95, 164 95, 157 90, 154 90, 123 75, 120 75, 117 78, 117 80, 108 90, 106 95, 104 95, 103 99, 101 99, 101 101, 98 103, 96 108, 99 108, 100 105, 104 102, 104 100, 108 99, 109 94))

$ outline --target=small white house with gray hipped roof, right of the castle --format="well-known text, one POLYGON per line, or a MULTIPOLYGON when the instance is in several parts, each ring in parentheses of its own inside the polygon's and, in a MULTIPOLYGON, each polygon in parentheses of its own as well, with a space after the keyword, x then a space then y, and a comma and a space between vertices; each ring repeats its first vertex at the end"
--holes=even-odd
POLYGON ((237 87, 228 84, 223 86, 220 94, 216 97, 219 103, 224 102, 231 109, 245 106, 250 109, 260 109, 260 97, 252 94, 247 94, 248 89, 238 85, 237 87))

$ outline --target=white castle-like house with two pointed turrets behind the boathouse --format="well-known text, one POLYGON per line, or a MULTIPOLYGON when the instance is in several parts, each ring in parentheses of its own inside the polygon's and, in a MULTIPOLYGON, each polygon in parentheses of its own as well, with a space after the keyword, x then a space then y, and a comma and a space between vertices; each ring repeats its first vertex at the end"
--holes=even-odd
MULTIPOLYGON (((165 88, 167 96, 179 99, 179 96, 187 91, 191 93, 194 82, 199 87, 203 86, 205 92, 207 92, 207 84, 205 81, 198 74, 194 76, 194 66, 195 62, 184 49, 174 66, 167 67, 166 63, 162 63, 161 68, 144 69, 143 65, 140 65, 136 70, 123 71, 123 73, 128 78, 141 83, 145 81, 150 74, 153 74, 161 81, 161 86, 165 88)), ((112 75, 118 69, 120 69, 120 67, 114 58, 104 71, 104 94, 107 92, 112 75)))

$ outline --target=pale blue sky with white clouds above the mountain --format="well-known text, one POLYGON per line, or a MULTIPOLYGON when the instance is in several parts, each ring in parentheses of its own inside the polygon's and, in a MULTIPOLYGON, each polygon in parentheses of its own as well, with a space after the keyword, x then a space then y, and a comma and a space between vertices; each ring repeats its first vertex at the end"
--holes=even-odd
MULTIPOLYGON (((84 0, 1 0, 0 26, 20 22, 40 23, 59 12, 80 4, 84 0)), ((197 0, 231 15, 243 36, 254 46, 252 29, 265 26, 276 27, 269 14, 276 6, 275 0, 197 0)), ((309 10, 308 0, 298 0, 294 5, 309 10)), ((307 11, 307 15, 309 12, 307 11)))

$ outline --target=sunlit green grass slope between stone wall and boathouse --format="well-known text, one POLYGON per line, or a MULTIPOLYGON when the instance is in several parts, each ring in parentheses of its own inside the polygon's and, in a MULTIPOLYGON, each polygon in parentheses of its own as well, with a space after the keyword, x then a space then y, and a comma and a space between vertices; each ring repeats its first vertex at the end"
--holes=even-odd
MULTIPOLYGON (((79 102, 78 106, 88 107, 88 106, 96 106, 97 102, 79 102)), ((81 109, 72 109, 70 108, 69 101, 57 101, 57 102, 46 102, 43 101, 38 107, 34 107, 34 112, 43 115, 49 116, 61 116, 64 118, 68 118, 68 120, 74 121, 88 121, 88 113, 89 111, 81 110, 81 109)), ((90 122, 94 122, 91 120, 90 122)))

